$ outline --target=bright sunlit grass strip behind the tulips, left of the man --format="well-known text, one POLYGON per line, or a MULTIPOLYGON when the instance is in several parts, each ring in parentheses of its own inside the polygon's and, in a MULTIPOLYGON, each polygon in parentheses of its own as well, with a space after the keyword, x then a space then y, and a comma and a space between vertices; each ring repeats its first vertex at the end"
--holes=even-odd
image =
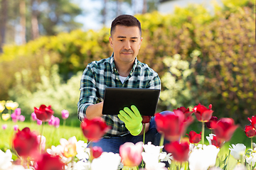
MULTIPOLYGON (((0 129, 0 149, 2 151, 6 151, 6 149, 11 148, 11 139, 15 132, 14 125, 18 125, 19 130, 28 127, 31 129, 31 131, 36 132, 37 135, 41 135, 42 125, 37 125, 36 122, 14 123, 11 120, 0 120, 0 128, 4 124, 7 125, 6 130, 0 129)), ((70 137, 75 136, 77 140, 83 140, 85 142, 87 141, 79 127, 72 127, 68 125, 60 125, 59 128, 55 128, 48 125, 48 123, 45 123, 43 127, 43 136, 46 137, 46 148, 50 148, 52 145, 60 145, 60 138, 65 138, 68 140, 70 137)))

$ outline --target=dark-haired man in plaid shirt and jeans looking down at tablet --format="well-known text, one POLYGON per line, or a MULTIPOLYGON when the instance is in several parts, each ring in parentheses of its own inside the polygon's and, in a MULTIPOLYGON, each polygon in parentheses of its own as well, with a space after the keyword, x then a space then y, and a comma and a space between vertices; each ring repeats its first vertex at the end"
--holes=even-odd
MULTIPOLYGON (((82 74, 78 118, 102 117, 112 127, 93 146, 102 147, 105 152, 119 153, 119 146, 125 142, 142 141, 144 126, 136 106, 124 108, 119 115, 102 115, 106 87, 161 89, 159 76, 147 64, 139 62, 137 55, 142 45, 142 28, 134 16, 122 15, 112 21, 110 30, 112 56, 91 62, 82 74)), ((154 144, 156 127, 154 120, 146 123, 146 142, 154 144)))

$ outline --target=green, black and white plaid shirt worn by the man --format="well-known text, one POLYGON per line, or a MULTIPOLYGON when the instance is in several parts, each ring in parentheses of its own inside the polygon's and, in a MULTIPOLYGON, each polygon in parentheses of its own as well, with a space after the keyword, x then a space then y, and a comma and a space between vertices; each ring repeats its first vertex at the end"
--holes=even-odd
MULTIPOLYGON (((82 121, 85 118, 88 106, 103 101, 106 87, 124 88, 149 88, 161 89, 159 76, 147 64, 135 59, 129 76, 124 84, 119 79, 119 74, 114 65, 114 53, 107 59, 87 64, 80 82, 80 99, 78 101, 78 118, 82 121)), ((119 120, 117 115, 103 115, 107 125, 112 127, 105 136, 121 136, 129 133, 124 122, 119 120)))

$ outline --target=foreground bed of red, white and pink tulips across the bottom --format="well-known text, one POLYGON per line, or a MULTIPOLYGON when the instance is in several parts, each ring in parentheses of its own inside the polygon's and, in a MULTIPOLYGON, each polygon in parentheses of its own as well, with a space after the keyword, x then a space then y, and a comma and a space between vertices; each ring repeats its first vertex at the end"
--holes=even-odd
MULTIPOLYGON (((6 108, 10 102, 4 103, 6 108)), ((0 111, 4 107, 0 104, 0 111)), ((14 122, 23 121, 18 106, 8 108, 14 113, 2 114, 3 120, 11 118, 14 122), (9 115, 8 115, 9 114, 9 115)), ((82 140, 77 140, 75 136, 67 139, 60 139, 60 144, 46 148, 46 137, 43 136, 43 126, 45 123, 58 128, 60 120, 53 116, 54 111, 51 106, 41 105, 34 108, 31 118, 42 124, 41 134, 36 135, 30 128, 18 129, 12 138, 12 148, 6 152, 0 150, 0 169, 146 169, 159 170, 167 169, 254 169, 256 162, 255 146, 252 137, 256 135, 256 117, 248 118, 250 125, 246 125, 244 132, 251 139, 251 147, 247 149, 243 144, 233 144, 230 146, 230 154, 225 157, 218 157, 221 147, 228 142, 233 133, 238 128, 232 118, 216 118, 213 116, 212 106, 208 108, 200 103, 189 108, 177 108, 174 111, 165 111, 165 114, 156 113, 156 129, 161 133, 159 146, 154 146, 151 142, 144 144, 138 142, 133 144, 126 142, 119 148, 119 154, 112 152, 102 152, 100 147, 90 147, 82 140), (195 116, 193 116, 195 115, 195 116), (193 121, 202 123, 201 132, 191 130, 187 137, 184 137, 186 130, 193 121), (209 128, 213 133, 205 137, 205 128, 209 128), (205 145, 205 138, 209 145, 205 145), (164 139, 170 142, 164 145, 164 139), (163 148, 166 152, 163 152, 163 148), (13 155, 16 159, 13 160, 13 155), (228 167, 230 157, 238 160, 233 167, 228 167), (218 164, 217 164, 218 162, 218 164)), ((68 111, 63 110, 62 118, 68 118, 68 111)), ((150 118, 146 117, 142 123, 146 123, 150 118)), ((6 125, 2 125, 4 130, 6 125)), ((97 141, 105 135, 110 127, 106 125, 102 118, 92 120, 85 119, 80 126, 82 134, 87 140, 97 141)))

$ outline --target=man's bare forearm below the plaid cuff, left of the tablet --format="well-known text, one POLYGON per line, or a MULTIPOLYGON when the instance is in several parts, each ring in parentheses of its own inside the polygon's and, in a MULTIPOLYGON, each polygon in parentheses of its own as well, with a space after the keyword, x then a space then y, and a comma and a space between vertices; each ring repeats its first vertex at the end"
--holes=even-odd
POLYGON ((95 117, 102 117, 103 101, 94 105, 90 105, 86 109, 86 118, 92 119, 95 117))

